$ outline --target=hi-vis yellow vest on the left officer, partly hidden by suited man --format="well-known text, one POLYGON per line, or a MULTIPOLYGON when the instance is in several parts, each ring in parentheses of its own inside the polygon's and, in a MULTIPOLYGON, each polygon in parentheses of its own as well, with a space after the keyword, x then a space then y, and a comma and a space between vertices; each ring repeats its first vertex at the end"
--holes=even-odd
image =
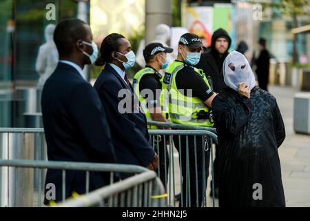
MULTIPOLYGON (((147 101, 146 101, 146 99, 144 97, 141 96, 141 91, 139 89, 140 81, 141 81, 142 77, 145 76, 145 75, 156 75, 156 73, 155 73, 153 68, 143 68, 143 69, 139 70, 136 73, 136 75, 134 75, 134 82, 133 82, 134 83, 134 93, 136 94, 136 96, 139 99, 139 102, 141 103, 141 106, 143 108, 145 116, 147 117, 147 119, 152 120, 152 116, 149 113, 149 109, 147 108, 147 101)), ((161 81, 161 86, 163 88, 163 77, 160 79, 160 81, 161 81)), ((154 96, 154 99, 155 99, 156 95, 153 95, 153 96, 154 96)), ((167 114, 166 114, 167 113, 167 108, 166 108, 166 111, 165 111, 164 104, 163 104, 163 95, 162 95, 162 93, 161 93, 160 99, 161 99, 161 111, 162 111, 163 115, 167 118, 167 114)), ((149 128, 149 129, 157 129, 157 126, 147 126, 147 128, 149 128)))

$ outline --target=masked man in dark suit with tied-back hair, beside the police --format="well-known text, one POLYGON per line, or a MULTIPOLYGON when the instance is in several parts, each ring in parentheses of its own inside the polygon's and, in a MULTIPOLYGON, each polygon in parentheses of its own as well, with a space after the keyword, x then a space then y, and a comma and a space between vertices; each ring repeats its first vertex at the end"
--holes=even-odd
MULTIPOLYGON (((134 104, 133 88, 125 73, 135 62, 130 42, 123 35, 110 34, 103 39, 100 52, 101 56, 95 64, 105 65, 105 68, 94 88, 105 112, 109 113, 107 122, 111 130, 116 162, 156 170, 158 156, 149 143, 146 118, 138 104, 134 104)), ((128 176, 130 174, 122 175, 128 176)))

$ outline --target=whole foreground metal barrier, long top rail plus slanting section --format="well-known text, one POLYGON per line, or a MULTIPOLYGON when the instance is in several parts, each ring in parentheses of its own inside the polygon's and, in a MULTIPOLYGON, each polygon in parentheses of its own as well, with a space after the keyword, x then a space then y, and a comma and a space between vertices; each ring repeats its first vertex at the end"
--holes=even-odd
POLYGON ((68 170, 85 171, 85 195, 74 200, 64 201, 59 206, 165 206, 163 184, 156 173, 142 166, 125 164, 98 164, 83 162, 46 162, 40 160, 0 160, 1 206, 43 206, 46 169, 62 171, 62 197, 65 200, 65 173, 68 170), (21 170, 32 170, 30 177, 21 170), (34 171, 39 171, 35 179, 34 171), (90 171, 110 173, 110 185, 89 193, 90 171), (128 179, 114 183, 114 173, 140 173, 128 179), (39 182, 34 188, 34 180, 39 182), (22 182, 21 182, 22 181, 22 182), (29 184, 30 183, 30 184, 29 184), (21 186, 21 187, 19 187, 21 186), (32 188, 31 188, 32 187, 32 188), (18 190, 21 191, 18 191, 18 190), (88 194, 87 194, 88 193, 88 194))

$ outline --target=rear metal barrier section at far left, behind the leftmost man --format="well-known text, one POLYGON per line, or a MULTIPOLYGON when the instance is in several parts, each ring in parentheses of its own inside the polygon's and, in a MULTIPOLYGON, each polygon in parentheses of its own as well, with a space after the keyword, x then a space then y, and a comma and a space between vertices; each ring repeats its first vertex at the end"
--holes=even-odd
MULTIPOLYGON (((0 128, 0 160, 47 160, 46 150, 43 128, 0 128)), ((38 180, 39 173, 43 172, 10 169, 8 173, 8 169, 0 169, 0 206, 8 206, 8 198, 24 200, 26 204, 32 204, 32 193, 34 190, 39 190, 40 182, 44 182, 44 180, 38 180), (8 192, 8 180, 10 185, 16 188, 13 191, 10 190, 11 192, 8 192), (14 195, 23 191, 27 191, 31 198, 15 198, 14 195)), ((9 201, 12 202, 12 200, 9 201)))

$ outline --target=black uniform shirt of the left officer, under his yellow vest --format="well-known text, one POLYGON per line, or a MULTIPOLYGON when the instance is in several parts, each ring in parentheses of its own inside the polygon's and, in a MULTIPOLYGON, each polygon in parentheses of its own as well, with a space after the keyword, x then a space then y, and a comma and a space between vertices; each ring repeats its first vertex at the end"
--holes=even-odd
MULTIPOLYGON (((146 68, 152 68, 146 66, 146 68)), ((161 74, 157 70, 152 68, 155 74, 146 74, 141 78, 139 84, 139 91, 148 89, 152 92, 152 95, 146 95, 143 97, 147 101, 147 106, 152 105, 153 107, 161 106, 161 74)))

